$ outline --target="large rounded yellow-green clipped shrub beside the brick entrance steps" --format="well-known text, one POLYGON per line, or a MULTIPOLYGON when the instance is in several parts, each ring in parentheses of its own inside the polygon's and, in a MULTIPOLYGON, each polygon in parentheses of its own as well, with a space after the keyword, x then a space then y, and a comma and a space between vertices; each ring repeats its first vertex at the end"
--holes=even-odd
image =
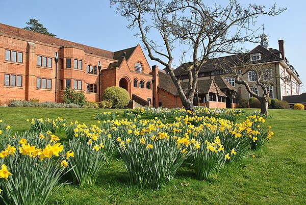
POLYGON ((125 89, 113 86, 105 89, 103 99, 112 102, 112 108, 124 108, 129 104, 130 95, 125 89))

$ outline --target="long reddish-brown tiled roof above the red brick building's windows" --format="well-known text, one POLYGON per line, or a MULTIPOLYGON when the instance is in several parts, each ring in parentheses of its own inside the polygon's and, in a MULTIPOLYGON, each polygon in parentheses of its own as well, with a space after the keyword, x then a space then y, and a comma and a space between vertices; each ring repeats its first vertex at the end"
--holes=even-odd
POLYGON ((23 39, 26 39, 27 41, 34 42, 34 43, 41 42, 41 43, 46 43, 46 44, 56 45, 56 46, 73 45, 73 46, 77 46, 77 47, 84 49, 85 53, 88 53, 88 54, 92 53, 97 56, 114 59, 114 52, 110 52, 108 50, 103 50, 103 49, 83 45, 80 43, 75 43, 75 42, 67 41, 64 39, 52 37, 52 36, 47 36, 44 34, 33 32, 33 31, 11 27, 10 25, 6 25, 3 23, 0 23, 0 35, 1 34, 23 38, 23 39))

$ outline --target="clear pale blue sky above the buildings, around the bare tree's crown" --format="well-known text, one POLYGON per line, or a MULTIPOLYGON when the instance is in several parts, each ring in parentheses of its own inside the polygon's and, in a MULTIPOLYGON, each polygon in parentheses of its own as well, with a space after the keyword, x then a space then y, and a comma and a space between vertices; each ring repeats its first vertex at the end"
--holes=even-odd
MULTIPOLYGON (((267 6, 276 2, 277 6, 287 8, 287 11, 275 17, 259 17, 257 26, 261 27, 261 24, 265 24, 265 33, 269 36, 269 47, 278 49, 277 41, 285 40, 285 55, 299 73, 300 80, 306 85, 306 69, 302 57, 303 50, 306 48, 304 12, 306 1, 248 2, 267 6)), ((140 39, 133 36, 136 31, 126 28, 126 19, 116 13, 115 7, 110 8, 108 0, 2 0, 0 7, 2 8, 0 22, 14 27, 24 28, 27 25, 25 22, 28 22, 30 18, 36 18, 49 32, 69 41, 111 51, 133 47, 138 43, 143 46, 140 39)), ((258 35, 261 33, 262 30, 258 32, 258 35)), ((256 44, 246 43, 244 46, 250 50, 256 44)), ((155 64, 152 61, 149 63, 155 64)), ((301 92, 306 92, 306 86, 301 88, 301 92)))

